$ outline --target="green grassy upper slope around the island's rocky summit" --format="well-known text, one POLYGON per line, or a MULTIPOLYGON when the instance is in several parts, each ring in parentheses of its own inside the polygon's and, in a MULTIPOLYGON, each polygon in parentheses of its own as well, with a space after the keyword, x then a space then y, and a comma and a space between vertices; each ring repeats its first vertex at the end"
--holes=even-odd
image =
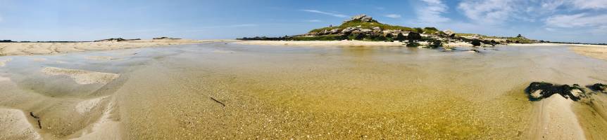
POLYGON ((324 27, 324 28, 320 28, 320 29, 313 29, 312 31, 309 31, 309 32, 325 31, 325 29, 327 31, 330 31, 331 29, 346 29, 347 27, 358 27, 358 26, 361 26, 361 28, 365 28, 365 29, 373 29, 373 27, 380 27, 381 29, 413 31, 413 29, 410 27, 387 25, 387 24, 383 24, 383 23, 380 23, 377 21, 363 22, 361 20, 352 20, 349 22, 345 22, 344 24, 339 25, 338 27, 324 27))

